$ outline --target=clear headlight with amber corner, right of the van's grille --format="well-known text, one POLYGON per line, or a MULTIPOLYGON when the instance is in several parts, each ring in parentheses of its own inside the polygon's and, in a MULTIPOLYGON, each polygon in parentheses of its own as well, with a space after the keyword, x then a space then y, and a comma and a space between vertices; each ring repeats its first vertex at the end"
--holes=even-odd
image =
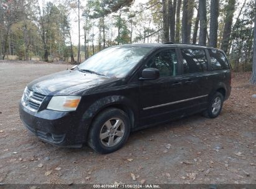
POLYGON ((53 96, 47 109, 57 111, 75 111, 80 102, 81 96, 53 96))

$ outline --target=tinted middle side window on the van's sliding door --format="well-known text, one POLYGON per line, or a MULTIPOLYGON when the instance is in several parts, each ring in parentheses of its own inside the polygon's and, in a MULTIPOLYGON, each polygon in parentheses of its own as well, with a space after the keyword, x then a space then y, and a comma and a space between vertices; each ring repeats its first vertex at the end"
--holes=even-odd
POLYGON ((181 49, 183 55, 184 74, 207 70, 207 58, 204 50, 181 49))

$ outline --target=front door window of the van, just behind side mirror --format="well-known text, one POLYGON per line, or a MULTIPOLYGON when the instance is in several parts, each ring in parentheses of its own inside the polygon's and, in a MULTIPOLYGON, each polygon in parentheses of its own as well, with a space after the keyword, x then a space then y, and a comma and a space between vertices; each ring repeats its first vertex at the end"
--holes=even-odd
POLYGON ((154 55, 145 65, 146 68, 157 68, 160 77, 177 75, 177 55, 174 49, 163 50, 154 55))

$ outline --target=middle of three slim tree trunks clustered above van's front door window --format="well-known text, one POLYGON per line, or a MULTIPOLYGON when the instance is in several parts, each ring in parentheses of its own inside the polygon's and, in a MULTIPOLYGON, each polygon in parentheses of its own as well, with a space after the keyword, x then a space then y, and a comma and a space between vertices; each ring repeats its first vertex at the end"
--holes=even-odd
POLYGON ((170 31, 170 41, 175 41, 175 15, 176 15, 176 0, 172 2, 169 0, 169 31, 170 31))

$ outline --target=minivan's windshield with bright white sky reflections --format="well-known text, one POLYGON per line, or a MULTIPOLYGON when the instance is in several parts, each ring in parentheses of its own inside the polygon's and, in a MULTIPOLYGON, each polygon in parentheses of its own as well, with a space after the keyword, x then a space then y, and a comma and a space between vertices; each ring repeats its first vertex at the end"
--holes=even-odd
POLYGON ((78 65, 79 70, 90 70, 100 75, 124 77, 135 67, 151 47, 110 47, 78 65))

